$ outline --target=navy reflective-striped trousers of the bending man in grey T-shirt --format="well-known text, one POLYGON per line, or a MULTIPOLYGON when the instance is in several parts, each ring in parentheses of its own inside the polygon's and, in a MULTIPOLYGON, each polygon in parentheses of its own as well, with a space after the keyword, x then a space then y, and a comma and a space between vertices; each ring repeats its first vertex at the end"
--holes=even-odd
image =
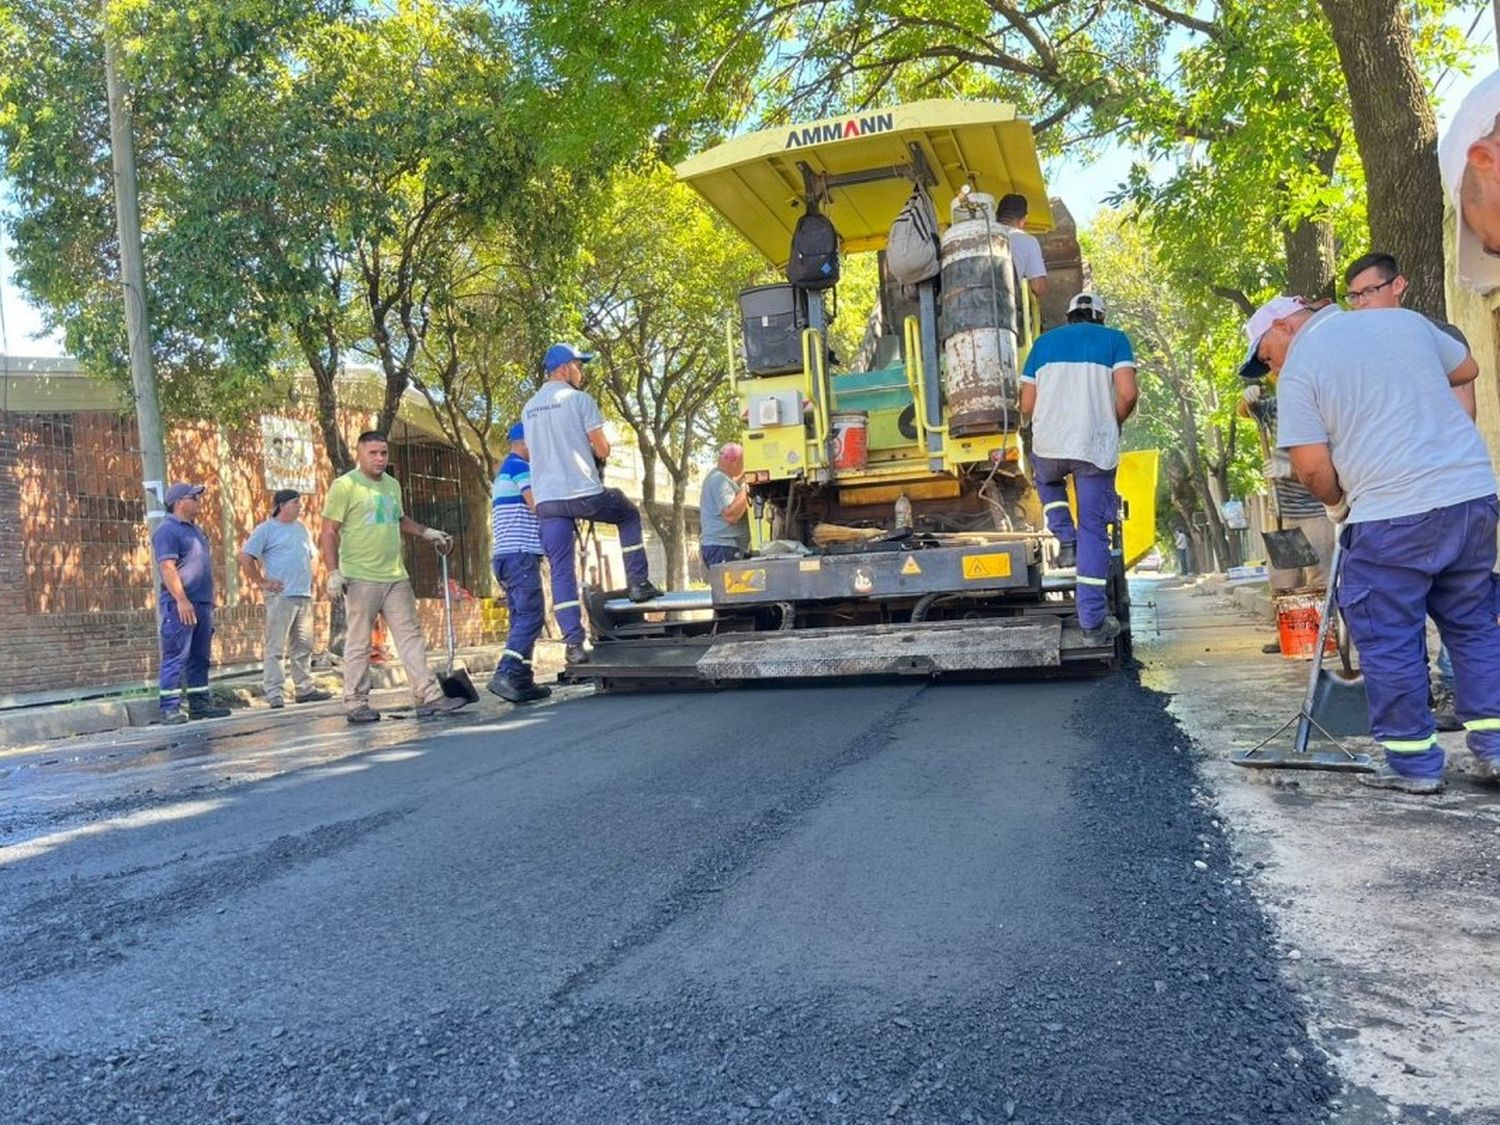
POLYGON ((1442 777, 1444 765, 1428 705, 1428 615, 1454 662, 1468 748, 1500 768, 1497 512, 1482 496, 1344 530, 1338 604, 1365 672, 1371 734, 1406 777, 1442 777))

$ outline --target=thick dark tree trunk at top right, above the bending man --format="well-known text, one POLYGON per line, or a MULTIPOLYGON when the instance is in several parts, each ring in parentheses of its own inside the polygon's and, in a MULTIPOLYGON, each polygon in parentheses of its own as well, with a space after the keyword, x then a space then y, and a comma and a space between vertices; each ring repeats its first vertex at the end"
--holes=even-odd
POLYGON ((1400 0, 1320 0, 1350 92, 1365 168, 1370 237, 1394 254, 1410 288, 1407 306, 1446 318, 1443 183, 1437 120, 1400 0))

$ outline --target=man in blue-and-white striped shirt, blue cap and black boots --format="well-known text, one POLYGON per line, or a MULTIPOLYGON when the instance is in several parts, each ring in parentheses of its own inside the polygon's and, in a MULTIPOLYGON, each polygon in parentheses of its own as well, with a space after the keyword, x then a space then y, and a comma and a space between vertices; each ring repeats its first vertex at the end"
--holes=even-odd
POLYGON ((495 474, 489 494, 490 566, 506 591, 510 632, 506 651, 488 687, 512 704, 531 704, 552 694, 531 669, 531 654, 542 633, 542 534, 537 501, 531 492, 531 462, 522 423, 510 428, 510 453, 495 474))

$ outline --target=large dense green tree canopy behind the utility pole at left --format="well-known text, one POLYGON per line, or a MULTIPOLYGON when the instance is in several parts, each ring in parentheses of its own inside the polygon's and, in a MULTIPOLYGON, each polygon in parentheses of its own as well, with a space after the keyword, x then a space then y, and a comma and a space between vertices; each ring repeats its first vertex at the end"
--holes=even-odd
MULTIPOLYGON (((94 6, 4 9, 0 146, 18 276, 94 372, 123 378, 94 6)), ((446 288, 567 136, 609 138, 531 90, 488 6, 116 0, 129 44, 164 404, 226 417, 306 366, 351 465, 339 375, 370 362, 388 428, 446 288)))

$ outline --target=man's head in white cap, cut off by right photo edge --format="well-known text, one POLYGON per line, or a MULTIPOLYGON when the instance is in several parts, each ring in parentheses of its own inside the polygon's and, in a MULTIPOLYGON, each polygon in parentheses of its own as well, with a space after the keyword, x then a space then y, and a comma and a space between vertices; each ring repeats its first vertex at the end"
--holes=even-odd
POLYGON ((1458 280, 1500 288, 1500 70, 1468 92, 1437 146, 1443 189, 1458 212, 1458 280))

